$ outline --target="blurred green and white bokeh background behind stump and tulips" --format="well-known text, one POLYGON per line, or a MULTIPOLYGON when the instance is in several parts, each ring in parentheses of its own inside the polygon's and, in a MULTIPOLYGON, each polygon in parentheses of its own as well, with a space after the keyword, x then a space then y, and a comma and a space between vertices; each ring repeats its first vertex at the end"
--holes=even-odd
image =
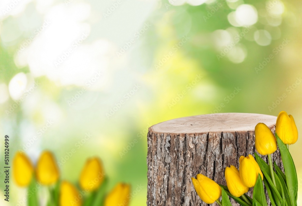
MULTIPOLYGON (((140 206, 151 125, 285 110, 302 131, 301 4, 2 0, 0 136, 11 138, 11 159, 19 149, 33 162, 53 151, 62 179, 76 183, 85 160, 99 156, 110 188, 131 183, 130 205, 140 206)), ((4 154, 4 138, 0 145, 4 154)), ((290 147, 298 205, 301 145, 290 147)), ((1 205, 18 204, 25 192, 12 182, 11 201, 1 205)))

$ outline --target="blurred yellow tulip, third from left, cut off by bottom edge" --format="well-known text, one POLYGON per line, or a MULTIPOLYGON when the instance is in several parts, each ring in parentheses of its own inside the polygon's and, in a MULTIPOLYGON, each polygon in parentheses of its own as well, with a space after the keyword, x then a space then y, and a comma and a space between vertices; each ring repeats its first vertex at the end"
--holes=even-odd
POLYGON ((63 181, 60 187, 60 206, 81 206, 82 197, 75 186, 63 181))

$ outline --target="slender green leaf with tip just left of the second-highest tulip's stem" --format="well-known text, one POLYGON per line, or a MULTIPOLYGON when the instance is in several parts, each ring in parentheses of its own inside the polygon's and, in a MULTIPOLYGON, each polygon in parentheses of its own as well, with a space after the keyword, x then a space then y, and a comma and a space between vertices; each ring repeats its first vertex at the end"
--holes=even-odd
POLYGON ((259 157, 259 155, 257 153, 255 153, 255 159, 256 159, 263 175, 265 176, 268 185, 271 188, 271 192, 273 194, 276 204, 281 205, 282 197, 281 197, 279 190, 277 189, 277 187, 274 185, 273 181, 271 180, 271 171, 269 169, 269 165, 264 160, 262 160, 261 157, 259 157))

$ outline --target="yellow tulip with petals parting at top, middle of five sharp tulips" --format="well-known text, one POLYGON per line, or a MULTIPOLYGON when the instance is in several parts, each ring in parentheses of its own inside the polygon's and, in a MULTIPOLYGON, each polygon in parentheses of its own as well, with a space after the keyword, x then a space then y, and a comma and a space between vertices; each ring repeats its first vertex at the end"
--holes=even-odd
POLYGON ((260 167, 251 154, 249 154, 248 157, 241 156, 239 159, 239 164, 239 174, 244 185, 247 187, 254 187, 258 174, 261 175, 263 180, 263 174, 260 170, 260 167))

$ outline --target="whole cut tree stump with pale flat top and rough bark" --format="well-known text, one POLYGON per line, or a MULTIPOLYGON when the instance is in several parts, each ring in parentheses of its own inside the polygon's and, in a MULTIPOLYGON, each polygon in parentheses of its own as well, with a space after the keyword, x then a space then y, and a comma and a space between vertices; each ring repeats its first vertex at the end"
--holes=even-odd
MULTIPOLYGON (((219 113, 172 119, 151 126, 147 206, 208 205, 198 197, 191 177, 202 173, 226 185, 225 168, 230 165, 239 168, 241 155, 254 156, 256 124, 263 122, 275 132, 276 119, 262 114, 219 113)), ((268 162, 265 156, 260 157, 268 162)), ((283 170, 279 150, 272 159, 283 170)), ((252 196, 252 189, 248 194, 252 196)))

